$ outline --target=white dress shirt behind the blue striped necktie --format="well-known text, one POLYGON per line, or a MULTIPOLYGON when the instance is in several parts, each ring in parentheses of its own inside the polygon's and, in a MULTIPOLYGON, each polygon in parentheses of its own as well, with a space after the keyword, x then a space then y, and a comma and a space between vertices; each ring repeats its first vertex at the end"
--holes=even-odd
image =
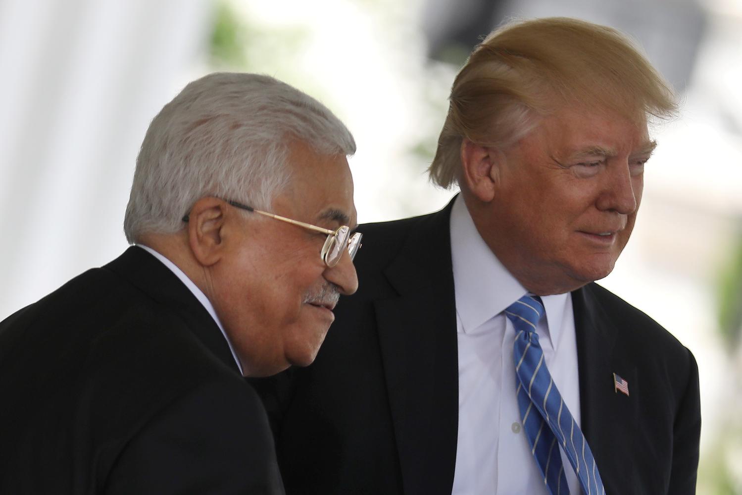
MULTIPOLYGON (((528 293, 479 236, 461 195, 451 210, 459 341, 459 438, 454 495, 548 495, 522 429, 513 365, 515 330, 502 312, 528 293)), ((502 235, 508 235, 502 233, 502 235)), ((570 294, 541 298, 536 329, 554 384, 580 424, 577 341, 570 294)), ((562 452, 572 494, 580 483, 562 452)))

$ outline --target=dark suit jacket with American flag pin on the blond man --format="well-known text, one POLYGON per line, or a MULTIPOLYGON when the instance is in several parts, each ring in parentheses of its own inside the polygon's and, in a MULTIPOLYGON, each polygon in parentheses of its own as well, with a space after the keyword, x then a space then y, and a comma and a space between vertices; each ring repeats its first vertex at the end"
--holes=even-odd
MULTIPOLYGON (((287 493, 451 493, 459 370, 449 219, 450 205, 362 226, 358 292, 341 300, 315 363, 257 384, 287 493)), ((572 297, 582 431, 606 492, 695 493, 693 356, 599 285, 572 297), (614 391, 614 372, 630 396, 614 391)))

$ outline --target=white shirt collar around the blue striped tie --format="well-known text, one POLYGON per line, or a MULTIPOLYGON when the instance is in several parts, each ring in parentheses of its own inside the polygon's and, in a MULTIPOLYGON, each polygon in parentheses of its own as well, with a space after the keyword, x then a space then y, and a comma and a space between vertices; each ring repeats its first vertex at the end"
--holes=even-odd
MULTIPOLYGON (((479 235, 462 195, 453 203, 450 230, 456 314, 464 333, 476 333, 528 291, 479 235)), ((567 297, 569 294, 541 297, 548 323, 546 336, 552 342, 559 341, 567 297)))

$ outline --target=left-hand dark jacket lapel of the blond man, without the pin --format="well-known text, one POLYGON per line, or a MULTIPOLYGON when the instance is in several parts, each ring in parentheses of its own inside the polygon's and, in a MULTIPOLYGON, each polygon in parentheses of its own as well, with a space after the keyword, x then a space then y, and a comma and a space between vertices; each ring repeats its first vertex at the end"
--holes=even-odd
POLYGON ((375 301, 404 493, 450 494, 459 369, 450 208, 423 217, 384 271, 398 297, 375 301))

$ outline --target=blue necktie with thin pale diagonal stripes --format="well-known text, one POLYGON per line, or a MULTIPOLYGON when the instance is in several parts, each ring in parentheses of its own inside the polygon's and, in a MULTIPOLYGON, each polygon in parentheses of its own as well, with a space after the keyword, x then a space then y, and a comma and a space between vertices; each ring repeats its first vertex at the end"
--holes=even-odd
POLYGON ((513 322, 516 331, 513 361, 523 430, 544 476, 545 485, 551 494, 569 493, 562 456, 557 447, 559 442, 585 494, 605 494, 590 446, 574 422, 567 404, 564 404, 544 363, 544 353, 536 334, 536 324, 544 314, 541 301, 523 296, 509 305, 505 314, 513 322))

